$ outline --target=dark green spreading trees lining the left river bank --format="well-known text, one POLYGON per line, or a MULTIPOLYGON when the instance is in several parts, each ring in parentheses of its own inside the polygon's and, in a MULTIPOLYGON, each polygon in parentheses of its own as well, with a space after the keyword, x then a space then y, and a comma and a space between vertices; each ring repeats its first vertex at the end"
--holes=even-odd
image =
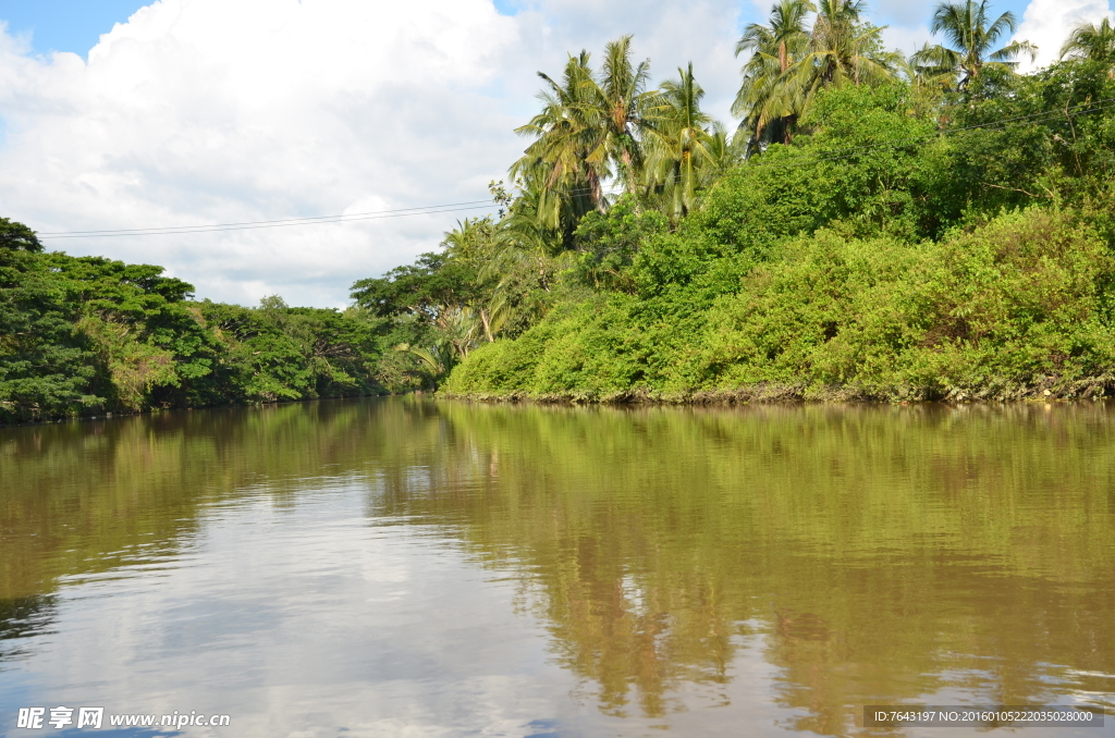
POLYGON ((192 291, 158 266, 41 253, 0 222, 0 423, 385 391, 382 321, 192 291))

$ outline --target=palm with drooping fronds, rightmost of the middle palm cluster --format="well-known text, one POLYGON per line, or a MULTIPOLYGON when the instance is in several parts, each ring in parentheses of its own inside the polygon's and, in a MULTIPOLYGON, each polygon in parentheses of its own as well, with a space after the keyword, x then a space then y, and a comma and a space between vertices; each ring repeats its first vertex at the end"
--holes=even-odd
POLYGON ((723 156, 723 142, 711 130, 712 118, 700 109, 705 90, 694 79, 692 62, 687 69, 679 68, 678 76, 660 87, 656 125, 648 137, 651 156, 647 167, 648 184, 661 188, 675 222, 694 208, 702 174, 717 167, 723 156))

